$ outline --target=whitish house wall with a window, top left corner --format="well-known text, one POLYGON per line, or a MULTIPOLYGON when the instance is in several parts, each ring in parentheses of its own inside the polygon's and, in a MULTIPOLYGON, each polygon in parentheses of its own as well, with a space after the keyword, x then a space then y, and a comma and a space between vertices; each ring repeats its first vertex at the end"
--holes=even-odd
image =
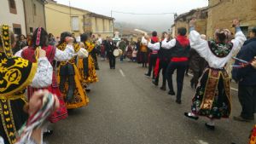
POLYGON ((22 0, 15 0, 17 14, 11 14, 9 12, 9 1, 0 0, 0 25, 8 24, 13 29, 13 24, 19 24, 21 26, 21 33, 26 35, 25 14, 22 0))

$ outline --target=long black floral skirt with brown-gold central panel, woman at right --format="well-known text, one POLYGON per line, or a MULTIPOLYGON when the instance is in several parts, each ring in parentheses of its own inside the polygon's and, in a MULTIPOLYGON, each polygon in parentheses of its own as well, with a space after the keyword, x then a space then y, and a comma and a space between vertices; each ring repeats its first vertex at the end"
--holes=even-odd
POLYGON ((225 70, 205 70, 193 98, 192 112, 208 118, 229 118, 230 78, 225 70))

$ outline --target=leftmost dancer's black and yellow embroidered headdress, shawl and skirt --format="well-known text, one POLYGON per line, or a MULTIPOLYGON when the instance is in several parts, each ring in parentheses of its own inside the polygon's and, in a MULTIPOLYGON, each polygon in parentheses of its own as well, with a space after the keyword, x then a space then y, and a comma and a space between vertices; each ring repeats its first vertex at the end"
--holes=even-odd
POLYGON ((0 135, 5 143, 14 144, 26 117, 23 90, 32 83, 38 65, 13 57, 9 26, 2 27, 1 35, 4 52, 0 52, 0 135))

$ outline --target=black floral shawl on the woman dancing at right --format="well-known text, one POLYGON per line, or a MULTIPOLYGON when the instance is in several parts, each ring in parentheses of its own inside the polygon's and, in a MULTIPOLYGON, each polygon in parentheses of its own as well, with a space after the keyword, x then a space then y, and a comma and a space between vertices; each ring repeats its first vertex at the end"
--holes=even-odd
POLYGON ((230 54, 230 51, 233 48, 233 43, 216 43, 214 41, 209 41, 209 48, 212 51, 213 55, 223 58, 230 54))

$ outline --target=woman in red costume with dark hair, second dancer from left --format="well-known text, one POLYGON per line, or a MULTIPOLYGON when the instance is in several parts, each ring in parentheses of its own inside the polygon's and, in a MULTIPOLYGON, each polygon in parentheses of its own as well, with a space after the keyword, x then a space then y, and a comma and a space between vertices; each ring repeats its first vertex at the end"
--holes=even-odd
MULTIPOLYGON (((49 45, 48 43, 48 33, 42 27, 38 27, 32 36, 32 46, 28 49, 20 50, 20 56, 26 60, 30 60, 31 62, 36 62, 35 52, 38 48, 44 49, 46 51, 46 56, 51 65, 53 66, 54 60, 56 61, 66 61, 73 58, 75 55, 73 49, 73 38, 69 38, 69 42, 67 43, 67 48, 64 51, 60 49, 56 49, 55 46, 49 45)), ((19 53, 19 52, 18 52, 19 53)), ((54 67, 54 66, 53 66, 54 67)), ((57 95, 60 101, 60 107, 49 117, 49 121, 51 123, 56 123, 61 119, 67 118, 67 107, 61 95, 61 91, 58 87, 55 70, 53 72, 52 84, 47 88, 39 88, 39 89, 48 89, 54 95, 57 95)), ((27 95, 30 99, 31 96, 38 88, 33 88, 29 86, 27 88, 27 95)))

